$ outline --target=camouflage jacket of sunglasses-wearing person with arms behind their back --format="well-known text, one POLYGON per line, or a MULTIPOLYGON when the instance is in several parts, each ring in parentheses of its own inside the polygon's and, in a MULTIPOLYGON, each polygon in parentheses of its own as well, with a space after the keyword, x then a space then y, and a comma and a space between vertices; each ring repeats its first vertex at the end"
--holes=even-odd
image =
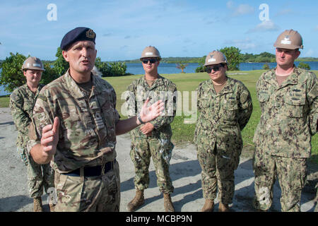
POLYGON ((229 78, 216 93, 211 79, 200 83, 198 95, 199 118, 194 131, 194 143, 212 152, 215 145, 227 156, 242 151, 241 131, 252 114, 252 98, 245 85, 229 78))

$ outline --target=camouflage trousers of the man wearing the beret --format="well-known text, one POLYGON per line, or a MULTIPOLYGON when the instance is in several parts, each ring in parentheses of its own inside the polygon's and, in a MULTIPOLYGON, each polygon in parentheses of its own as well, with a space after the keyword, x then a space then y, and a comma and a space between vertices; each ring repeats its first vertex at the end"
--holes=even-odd
POLYGON ((73 177, 55 172, 55 212, 119 212, 120 177, 118 162, 100 176, 73 177))

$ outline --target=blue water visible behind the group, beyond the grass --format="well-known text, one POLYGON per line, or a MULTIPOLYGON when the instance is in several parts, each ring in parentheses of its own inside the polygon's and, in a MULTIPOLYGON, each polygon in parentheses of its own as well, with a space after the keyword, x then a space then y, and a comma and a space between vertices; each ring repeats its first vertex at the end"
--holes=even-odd
MULTIPOLYGON (((298 66, 300 62, 295 62, 296 66, 298 66)), ((318 70, 318 61, 305 61, 304 63, 309 64, 311 70, 318 70)), ((240 64, 240 71, 252 71, 252 70, 261 70, 263 69, 265 63, 241 63, 240 64)), ((276 63, 268 63, 269 67, 272 69, 276 67, 276 63)), ((126 73, 132 73, 134 75, 143 74, 143 66, 141 63, 136 64, 126 64, 127 69, 126 73)), ((184 72, 186 73, 195 73, 196 68, 199 67, 199 64, 191 63, 188 64, 184 72)), ((1 72, 1 69, 0 69, 1 72)), ((180 69, 176 68, 176 64, 167 64, 167 63, 160 63, 158 67, 158 73, 181 73, 180 69)), ((0 96, 8 95, 6 91, 4 91, 4 87, 0 85, 0 96)))

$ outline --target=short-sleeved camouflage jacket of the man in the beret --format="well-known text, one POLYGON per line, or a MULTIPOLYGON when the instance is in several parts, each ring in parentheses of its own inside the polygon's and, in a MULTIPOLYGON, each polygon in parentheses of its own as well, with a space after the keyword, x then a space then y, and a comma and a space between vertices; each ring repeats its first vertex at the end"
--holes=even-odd
POLYGON ((101 165, 116 157, 116 93, 107 81, 93 75, 92 78, 92 91, 88 93, 67 71, 42 88, 35 103, 28 151, 40 143, 42 128, 59 117, 59 143, 51 161, 59 172, 101 165), (109 150, 112 151, 105 153, 109 150))

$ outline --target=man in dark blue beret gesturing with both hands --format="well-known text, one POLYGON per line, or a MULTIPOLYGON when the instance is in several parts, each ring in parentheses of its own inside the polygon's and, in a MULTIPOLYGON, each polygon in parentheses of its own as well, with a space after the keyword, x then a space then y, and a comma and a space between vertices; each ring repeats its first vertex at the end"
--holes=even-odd
MULTIPOLYGON (((33 109, 28 151, 55 170, 55 211, 119 211, 120 179, 116 135, 160 115, 163 103, 119 120, 116 93, 93 76, 95 32, 75 28, 61 40, 69 70, 42 88, 33 109)), ((54 194, 53 194, 54 195, 54 194)))

